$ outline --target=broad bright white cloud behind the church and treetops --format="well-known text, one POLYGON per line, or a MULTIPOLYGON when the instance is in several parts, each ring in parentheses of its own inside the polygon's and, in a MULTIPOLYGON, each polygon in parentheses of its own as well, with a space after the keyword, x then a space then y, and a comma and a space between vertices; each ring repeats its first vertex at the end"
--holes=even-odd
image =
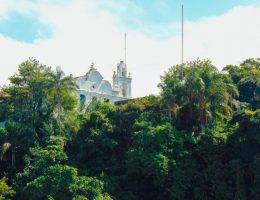
MULTIPOLYGON (((0 85, 29 57, 54 67, 60 65, 67 74, 75 76, 85 74, 94 61, 111 81, 117 62, 124 58, 125 31, 117 26, 118 19, 113 14, 100 11, 95 1, 80 0, 63 5, 49 1, 27 3, 19 9, 37 12, 54 34, 33 44, 0 35, 0 85)), ((6 8, 0 7, 0 16, 5 11, 6 8)), ((185 22, 184 27, 186 61, 209 58, 222 68, 248 57, 260 57, 260 7, 236 7, 222 16, 185 22)), ((158 93, 160 75, 181 61, 180 47, 180 36, 159 40, 148 38, 140 30, 128 31, 127 63, 133 77, 134 97, 158 93)))

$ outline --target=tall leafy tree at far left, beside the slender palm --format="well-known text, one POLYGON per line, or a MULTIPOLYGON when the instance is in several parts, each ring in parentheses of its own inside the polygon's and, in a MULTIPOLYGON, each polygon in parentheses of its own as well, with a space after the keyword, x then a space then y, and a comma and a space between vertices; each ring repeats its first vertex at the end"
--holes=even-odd
POLYGON ((50 73, 50 68, 30 59, 19 65, 19 73, 10 77, 10 86, 2 89, 8 94, 2 103, 8 108, 5 120, 13 167, 18 151, 26 151, 45 137, 41 128, 51 113, 45 102, 50 73))

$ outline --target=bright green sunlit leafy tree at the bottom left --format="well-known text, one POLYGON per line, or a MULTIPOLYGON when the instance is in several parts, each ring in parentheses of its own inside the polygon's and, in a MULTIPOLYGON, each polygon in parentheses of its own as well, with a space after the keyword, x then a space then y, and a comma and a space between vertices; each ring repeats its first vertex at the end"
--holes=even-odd
POLYGON ((104 183, 95 177, 78 176, 78 170, 66 165, 64 139, 51 137, 45 148, 32 148, 26 166, 17 174, 15 187, 19 199, 111 199, 104 183))

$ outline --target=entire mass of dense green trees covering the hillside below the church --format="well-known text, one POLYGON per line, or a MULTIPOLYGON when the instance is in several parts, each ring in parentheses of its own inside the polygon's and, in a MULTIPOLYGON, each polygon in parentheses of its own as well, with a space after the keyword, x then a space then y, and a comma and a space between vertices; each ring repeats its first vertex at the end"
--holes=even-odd
POLYGON ((23 62, 0 91, 0 199, 260 199, 260 61, 176 65, 159 88, 86 107, 23 62))

